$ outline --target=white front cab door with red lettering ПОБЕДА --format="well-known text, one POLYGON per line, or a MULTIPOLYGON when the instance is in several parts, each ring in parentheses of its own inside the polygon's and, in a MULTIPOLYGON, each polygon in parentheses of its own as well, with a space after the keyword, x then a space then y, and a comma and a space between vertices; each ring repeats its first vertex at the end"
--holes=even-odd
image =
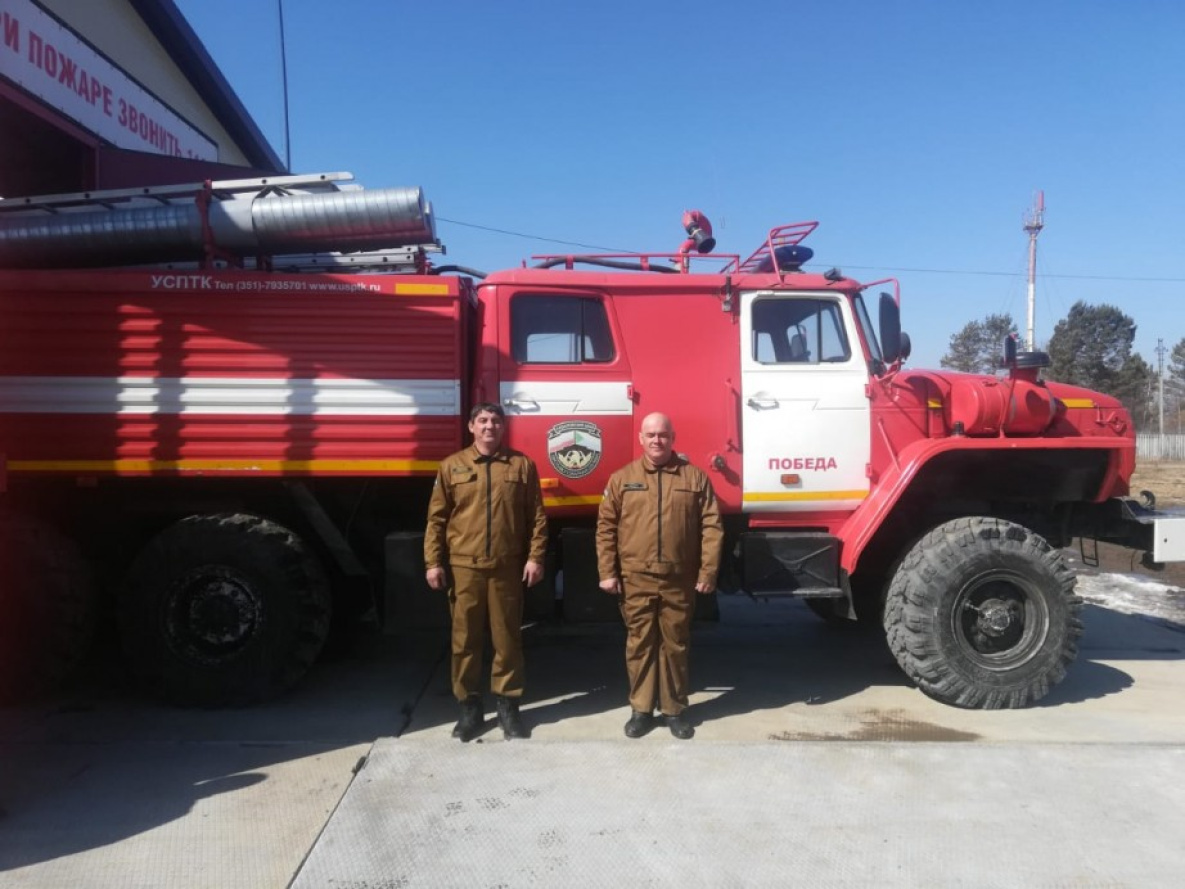
POLYGON ((867 366, 832 294, 741 298, 745 512, 834 512, 869 494, 867 366))

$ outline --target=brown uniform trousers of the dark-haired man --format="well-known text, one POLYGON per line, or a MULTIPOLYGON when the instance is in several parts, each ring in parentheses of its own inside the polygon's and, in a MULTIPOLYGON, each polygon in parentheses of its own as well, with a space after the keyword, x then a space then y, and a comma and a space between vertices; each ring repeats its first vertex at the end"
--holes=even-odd
POLYGON ((451 565, 453 693, 457 701, 481 693, 486 628, 494 646, 489 687, 523 696, 523 569, 451 565))

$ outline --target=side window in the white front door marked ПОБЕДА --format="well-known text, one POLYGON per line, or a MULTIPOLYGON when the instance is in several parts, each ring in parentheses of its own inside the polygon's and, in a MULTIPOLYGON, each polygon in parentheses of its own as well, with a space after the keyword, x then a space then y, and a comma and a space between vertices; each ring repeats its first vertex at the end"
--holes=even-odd
POLYGON ((851 357, 834 300, 769 296, 752 303, 752 359, 761 364, 819 364, 851 357))

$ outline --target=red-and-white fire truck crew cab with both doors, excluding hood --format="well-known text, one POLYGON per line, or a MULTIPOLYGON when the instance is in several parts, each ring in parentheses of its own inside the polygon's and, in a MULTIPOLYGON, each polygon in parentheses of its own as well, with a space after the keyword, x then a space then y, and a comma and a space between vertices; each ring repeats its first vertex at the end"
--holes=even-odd
MULTIPOLYGON (((678 261, 649 257, 666 258, 678 261)), ((485 335, 508 337, 482 351, 497 365, 479 367, 476 391, 514 417, 514 447, 550 466, 557 511, 598 500, 652 411, 674 420, 677 448, 712 473, 725 510, 758 524, 834 530, 867 497, 865 390, 883 358, 856 282, 525 269, 478 293, 498 319, 485 335), (587 459, 563 459, 569 434, 587 459)))

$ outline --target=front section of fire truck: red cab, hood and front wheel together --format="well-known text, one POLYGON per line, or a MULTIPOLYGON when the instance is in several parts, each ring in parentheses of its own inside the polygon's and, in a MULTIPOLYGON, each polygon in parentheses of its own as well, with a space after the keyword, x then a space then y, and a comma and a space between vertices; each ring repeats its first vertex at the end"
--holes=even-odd
POLYGON ((559 516, 597 501, 641 417, 670 415, 728 517, 726 588, 883 625, 937 699, 1031 703, 1082 628, 1059 548, 1180 559, 1185 520, 1128 497, 1130 417, 1040 379, 1044 354, 1010 344, 993 376, 907 370, 897 282, 803 270, 815 226, 779 226, 715 269, 683 249, 491 275, 475 391, 514 416, 559 516))

